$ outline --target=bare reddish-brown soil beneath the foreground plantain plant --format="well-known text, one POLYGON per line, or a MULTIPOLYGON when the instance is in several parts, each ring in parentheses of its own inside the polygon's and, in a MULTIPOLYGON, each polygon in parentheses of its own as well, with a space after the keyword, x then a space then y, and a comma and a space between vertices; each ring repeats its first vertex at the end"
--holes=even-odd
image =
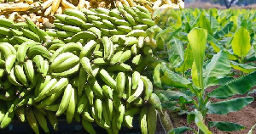
MULTIPOLYGON (((212 92, 212 90, 216 89, 217 87, 209 87, 207 88, 207 92, 212 92)), ((256 87, 253 87, 252 89, 255 89, 256 87)), ((247 95, 236 95, 232 98, 241 98, 246 97, 247 95)), ((206 116, 206 124, 209 121, 227 121, 227 122, 234 122, 238 123, 241 126, 246 126, 246 129, 241 131, 219 131, 216 127, 209 128, 210 131, 212 131, 213 134, 247 134, 248 131, 252 128, 254 124, 256 124, 256 95, 253 95, 254 101, 253 103, 250 103, 245 107, 244 109, 241 109, 237 112, 230 112, 229 114, 219 115, 219 114, 207 114, 206 116)), ((230 99, 230 98, 229 98, 230 99)), ((220 101, 220 99, 217 98, 211 98, 212 102, 216 103, 220 101)), ((180 126, 188 126, 191 128, 194 128, 197 130, 197 127, 195 125, 195 122, 191 122, 189 125, 187 123, 187 116, 186 115, 179 115, 176 113, 173 113, 169 111, 170 118, 172 120, 172 125, 174 128, 180 127, 180 126)), ((165 134, 165 131, 163 130, 162 126, 160 126, 160 121, 157 123, 157 134, 165 134)), ((253 130, 253 133, 256 133, 256 129, 253 130)), ((194 134, 193 131, 186 131, 184 134, 194 134)))

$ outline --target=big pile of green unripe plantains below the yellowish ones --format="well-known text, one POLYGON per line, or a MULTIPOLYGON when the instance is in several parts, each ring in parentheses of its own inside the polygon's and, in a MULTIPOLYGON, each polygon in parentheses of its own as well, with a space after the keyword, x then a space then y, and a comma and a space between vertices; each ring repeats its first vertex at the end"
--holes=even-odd
MULTIPOLYGON (((159 100, 143 70, 154 62, 145 43, 148 31, 159 31, 143 6, 66 9, 55 15, 55 27, 39 29, 31 20, 0 18, 0 127, 15 114, 32 130, 58 130, 67 123, 91 123, 118 134, 132 128, 139 115, 141 132, 154 133, 159 100)), ((149 35, 148 35, 149 33, 149 35)))

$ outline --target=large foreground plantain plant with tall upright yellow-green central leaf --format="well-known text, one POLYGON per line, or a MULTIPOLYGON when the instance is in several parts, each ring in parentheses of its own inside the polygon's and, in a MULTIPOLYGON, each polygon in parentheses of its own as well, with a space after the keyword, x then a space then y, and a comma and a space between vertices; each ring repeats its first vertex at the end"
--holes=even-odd
MULTIPOLYGON (((230 74, 231 70, 229 52, 220 50, 213 55, 212 59, 204 62, 206 59, 207 30, 195 27, 189 32, 188 40, 189 44, 185 52, 182 53, 182 51, 179 51, 182 50, 182 42, 176 37, 172 37, 170 41, 172 45, 167 45, 169 53, 176 52, 171 53, 172 56, 169 57, 172 63, 166 64, 162 62, 154 69, 153 78, 156 86, 165 88, 163 85, 166 85, 176 87, 179 90, 174 91, 169 88, 167 90, 154 90, 154 93, 159 96, 163 108, 179 110, 179 114, 187 114, 188 122, 195 121, 198 126, 198 131, 189 127, 181 127, 170 131, 170 133, 190 130, 195 131, 195 133, 208 134, 212 132, 205 125, 206 114, 236 112, 253 102, 253 97, 230 97, 249 92, 256 85, 256 81, 253 80, 256 77, 256 71, 228 81, 225 77, 230 74), (181 60, 183 62, 177 62, 181 60), (183 75, 175 72, 172 68, 175 65, 179 66, 175 69, 181 70, 183 75), (191 68, 190 77, 188 77, 189 75, 186 77, 183 70, 188 70, 189 68, 191 68), (220 85, 220 87, 212 92, 206 91, 207 87, 217 85, 220 85), (212 103, 210 98, 223 100, 218 103, 212 103), (177 104, 179 107, 177 107, 177 104), (195 110, 189 110, 189 107, 195 110)), ((211 121, 208 126, 216 126, 221 131, 238 131, 245 128, 239 124, 224 121, 211 121)))

